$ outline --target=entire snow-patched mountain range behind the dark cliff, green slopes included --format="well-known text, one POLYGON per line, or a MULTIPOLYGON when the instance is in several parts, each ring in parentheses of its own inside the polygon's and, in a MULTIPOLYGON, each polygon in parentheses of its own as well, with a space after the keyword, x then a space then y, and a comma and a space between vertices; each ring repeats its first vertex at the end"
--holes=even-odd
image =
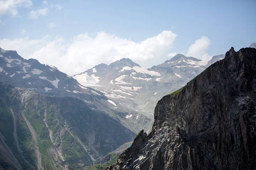
POLYGON ((98 164, 142 129, 150 133, 157 101, 224 56, 205 62, 178 54, 152 68, 120 59, 70 77, 0 48, 0 165, 65 170, 98 164))

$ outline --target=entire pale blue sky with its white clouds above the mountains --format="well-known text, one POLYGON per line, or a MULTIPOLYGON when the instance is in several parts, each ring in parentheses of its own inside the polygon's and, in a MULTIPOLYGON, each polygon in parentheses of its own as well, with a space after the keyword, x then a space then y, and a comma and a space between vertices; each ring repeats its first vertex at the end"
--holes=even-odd
POLYGON ((256 41, 255 8, 255 0, 0 0, 0 47, 68 74, 123 57, 144 67, 178 53, 209 60, 256 41))

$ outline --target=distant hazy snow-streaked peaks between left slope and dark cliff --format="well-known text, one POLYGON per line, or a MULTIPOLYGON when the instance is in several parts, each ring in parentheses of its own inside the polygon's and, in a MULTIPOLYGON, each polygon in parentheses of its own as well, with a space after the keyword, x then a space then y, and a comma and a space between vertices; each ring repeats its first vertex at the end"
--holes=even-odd
POLYGON ((134 133, 151 130, 154 106, 166 94, 186 85, 212 63, 224 55, 212 57, 209 62, 178 54, 166 62, 146 69, 131 59, 120 59, 110 65, 100 64, 73 76, 81 85, 102 92, 111 100, 112 109, 134 133))

